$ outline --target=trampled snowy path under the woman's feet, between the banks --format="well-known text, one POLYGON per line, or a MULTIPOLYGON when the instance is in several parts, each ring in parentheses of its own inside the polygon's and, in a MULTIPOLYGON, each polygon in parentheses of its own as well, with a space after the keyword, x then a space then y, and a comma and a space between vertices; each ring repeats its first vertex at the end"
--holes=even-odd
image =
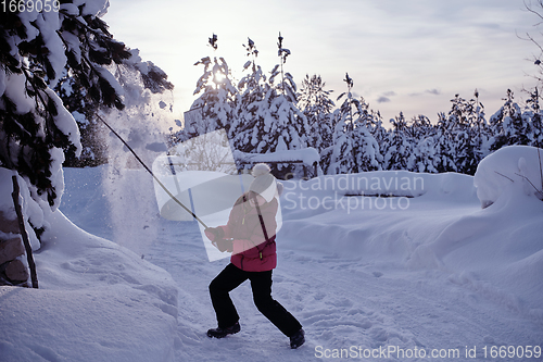
MULTIPOLYGON (((540 325, 455 285, 440 272, 382 271, 358 260, 289 250, 279 252, 274 297, 304 325, 307 344, 296 351, 288 349, 287 338, 255 309, 249 283, 232 292, 242 332, 210 340, 204 333, 215 326, 215 320, 207 285, 227 261, 207 262, 195 225, 172 226, 179 235, 155 242, 146 258, 178 282, 179 361, 202 355, 210 361, 239 361, 241 357, 307 361, 352 346, 392 346, 406 353, 424 348, 427 360, 432 349, 447 354, 459 351, 458 361, 464 360, 466 347, 477 346, 482 360, 484 346, 534 346, 542 340, 543 333, 533 334, 541 330, 540 325)), ((390 360, 405 360, 396 353, 390 360)))

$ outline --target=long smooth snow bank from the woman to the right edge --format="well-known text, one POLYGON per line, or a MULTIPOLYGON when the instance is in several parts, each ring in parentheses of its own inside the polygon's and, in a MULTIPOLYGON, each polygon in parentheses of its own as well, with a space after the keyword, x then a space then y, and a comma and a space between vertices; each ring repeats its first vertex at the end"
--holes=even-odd
MULTIPOLYGON (((491 161, 506 165, 500 154, 507 155, 491 161)), ((520 172, 533 177, 531 170, 520 172)), ((476 188, 472 176, 408 172, 286 182, 278 245, 381 271, 439 270, 453 284, 543 321, 543 202, 517 177, 481 209, 481 185, 476 188)))

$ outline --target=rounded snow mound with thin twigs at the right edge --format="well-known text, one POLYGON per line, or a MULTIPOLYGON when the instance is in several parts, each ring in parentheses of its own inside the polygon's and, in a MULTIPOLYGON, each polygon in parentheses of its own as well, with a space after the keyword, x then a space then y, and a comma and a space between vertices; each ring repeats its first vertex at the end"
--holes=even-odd
POLYGON ((526 195, 543 200, 543 150, 530 146, 509 146, 484 158, 477 167, 475 185, 482 208, 504 192, 521 188, 526 195))

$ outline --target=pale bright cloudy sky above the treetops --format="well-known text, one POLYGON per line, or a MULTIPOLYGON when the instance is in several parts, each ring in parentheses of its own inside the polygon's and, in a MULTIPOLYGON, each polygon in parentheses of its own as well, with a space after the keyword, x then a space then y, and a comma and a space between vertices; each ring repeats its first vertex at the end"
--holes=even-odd
POLYGON ((470 99, 476 88, 487 117, 507 89, 526 99, 540 54, 521 38, 531 34, 543 43, 540 18, 523 0, 110 0, 103 18, 117 40, 166 72, 176 118, 197 98, 203 66, 195 62, 223 57, 240 79, 251 38, 257 64, 269 72, 279 63, 279 32, 291 51, 285 70, 299 88, 306 75, 318 74, 339 105, 349 73, 353 93, 386 125, 400 112, 435 122, 456 93, 470 99), (207 45, 213 34, 216 51, 207 45))

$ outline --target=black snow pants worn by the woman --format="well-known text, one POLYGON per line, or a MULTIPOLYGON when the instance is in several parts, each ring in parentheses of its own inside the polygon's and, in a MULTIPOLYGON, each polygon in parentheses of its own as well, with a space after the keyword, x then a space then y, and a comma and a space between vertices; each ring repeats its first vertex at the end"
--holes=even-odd
POLYGON ((210 284, 210 295, 219 328, 227 328, 239 321, 238 312, 228 295, 247 279, 251 280, 254 304, 287 337, 302 328, 298 320, 272 298, 272 271, 245 272, 228 264, 210 284))

